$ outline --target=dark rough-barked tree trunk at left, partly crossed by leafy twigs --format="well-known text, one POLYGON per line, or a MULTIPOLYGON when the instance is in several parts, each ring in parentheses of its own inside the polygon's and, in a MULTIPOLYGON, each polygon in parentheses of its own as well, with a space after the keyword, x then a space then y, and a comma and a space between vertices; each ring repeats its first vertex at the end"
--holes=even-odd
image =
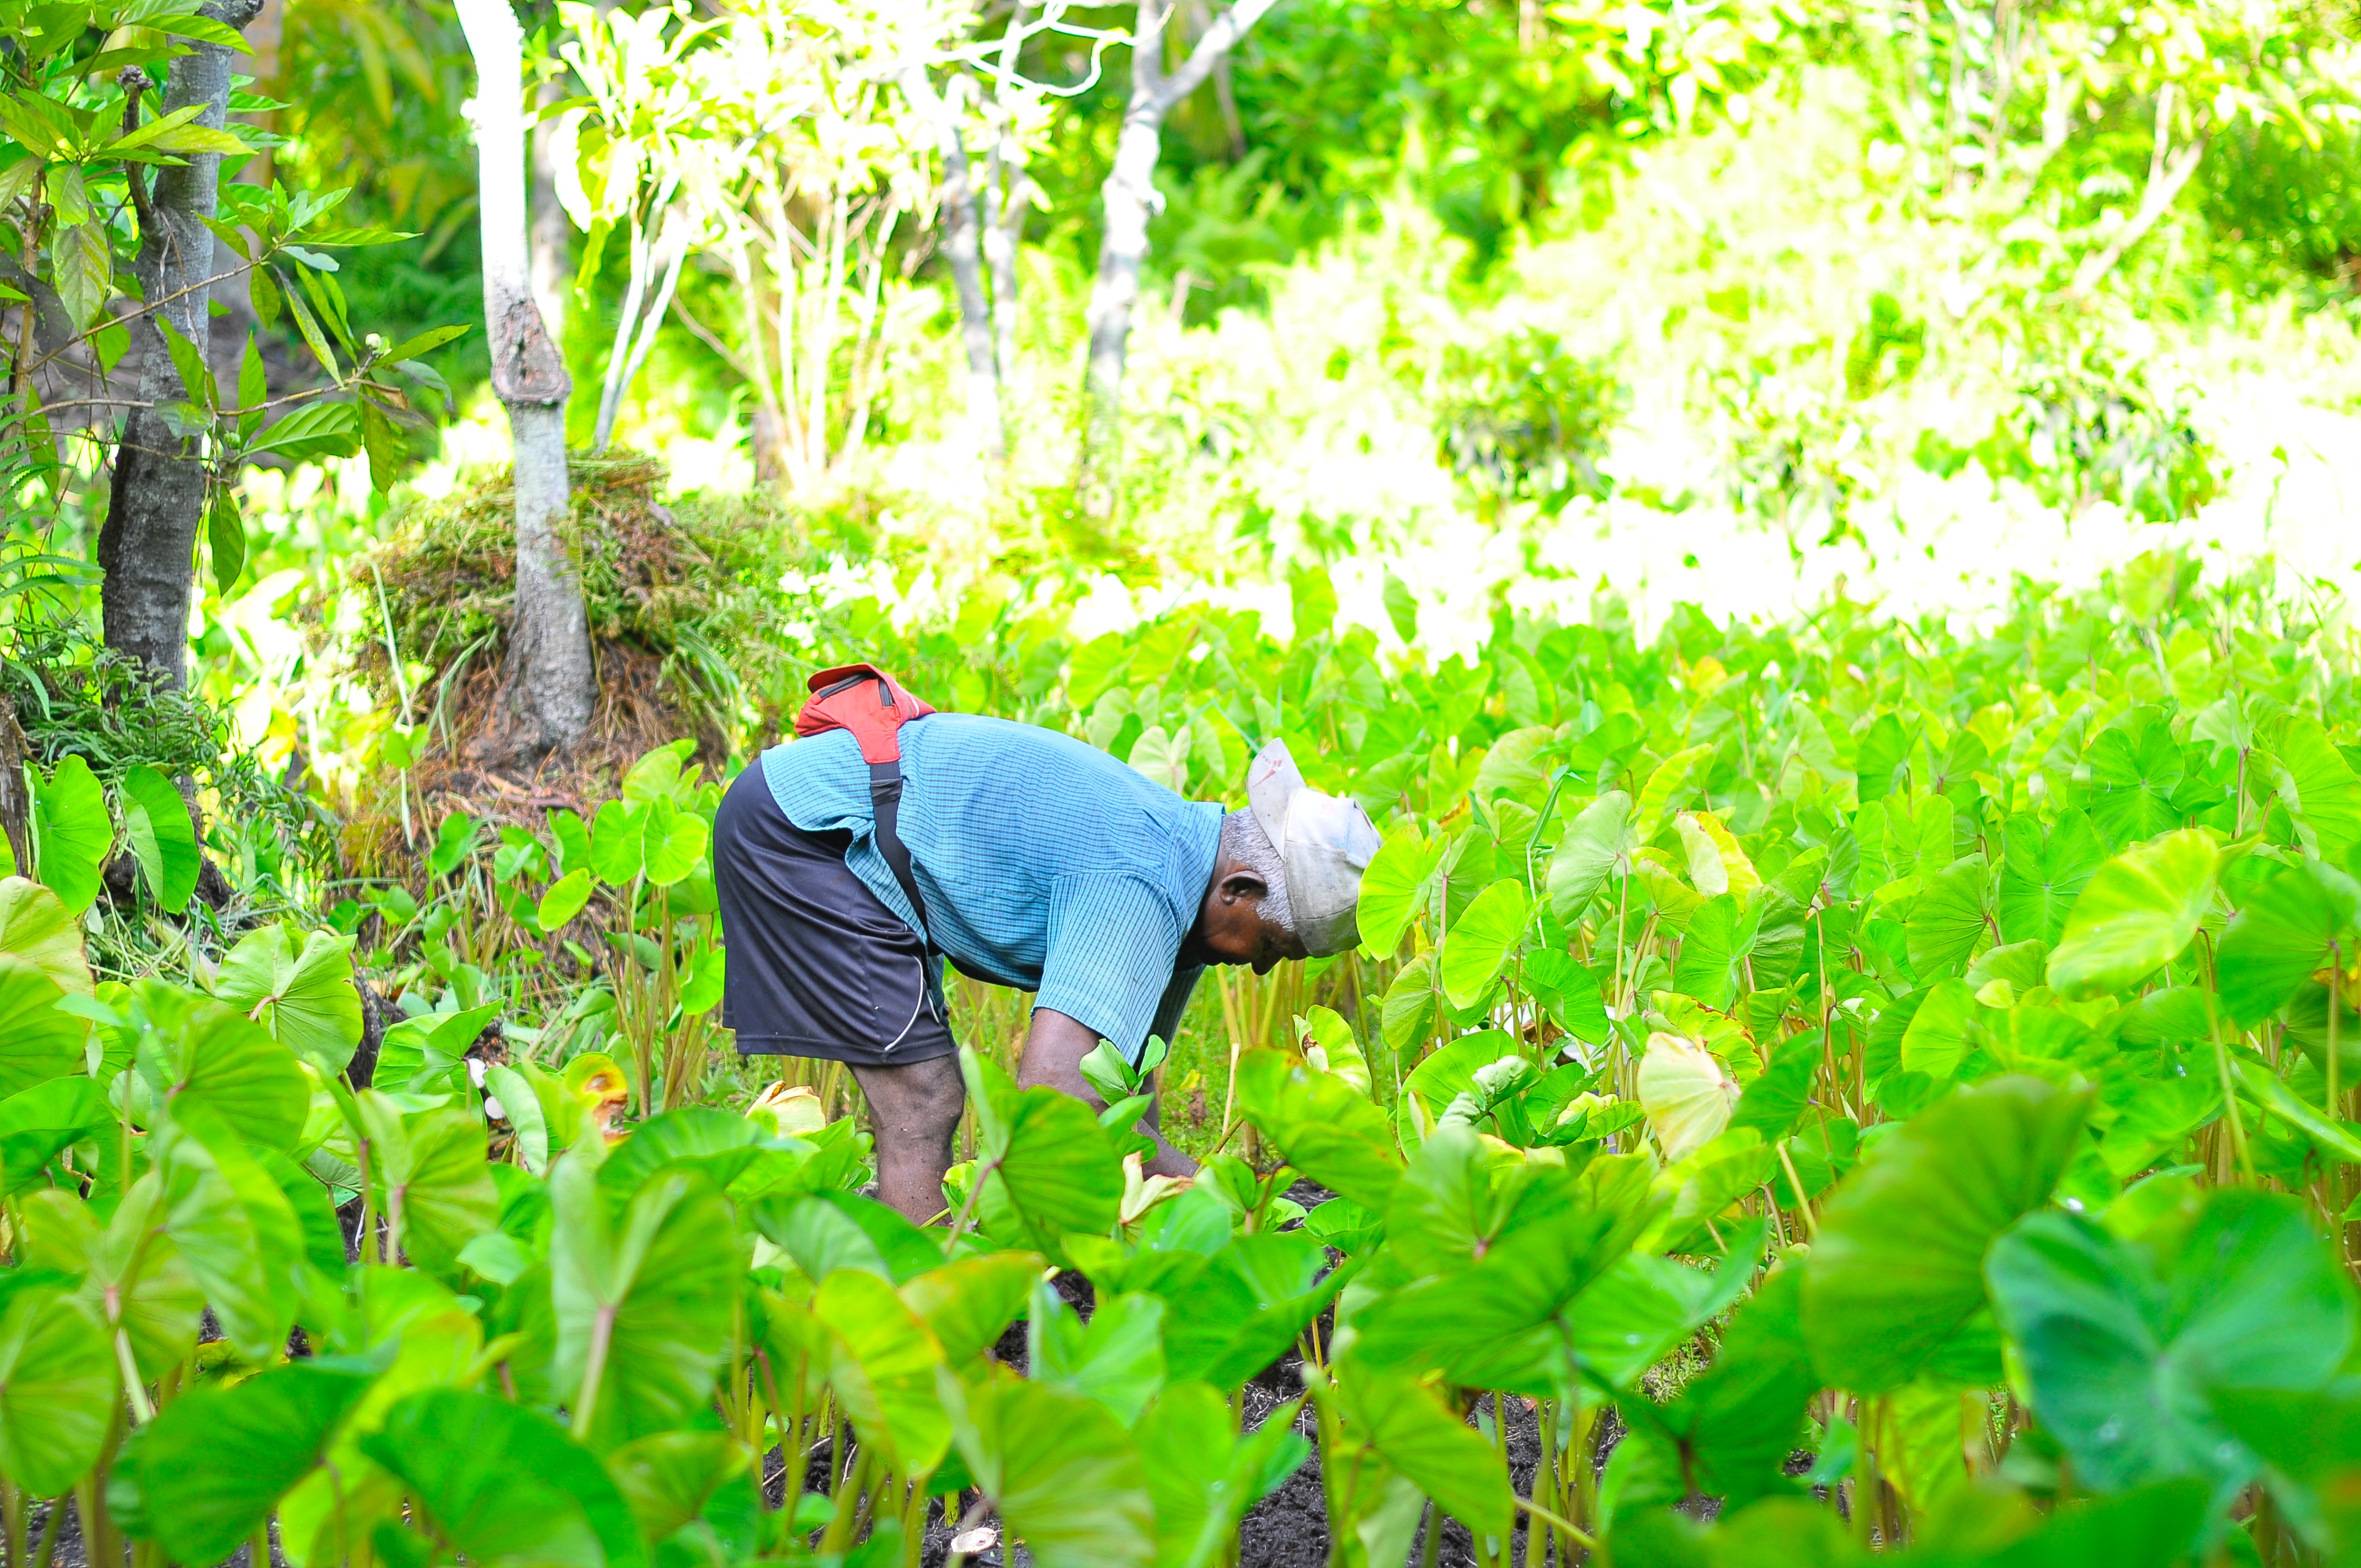
MULTIPOLYGON (((203 14, 243 28, 260 9, 262 0, 208 0, 203 14)), ((172 61, 156 113, 196 104, 196 123, 220 130, 229 120, 229 47, 191 45, 189 54, 172 61)), ((165 423, 161 406, 187 399, 187 392, 156 324, 170 321, 198 359, 205 357, 212 335, 205 312, 212 229, 205 222, 215 213, 220 175, 220 153, 187 153, 177 168, 156 170, 149 198, 153 222, 142 224, 135 262, 139 288, 153 309, 132 321, 139 399, 156 406, 132 409, 123 420, 106 522, 99 527, 106 645, 132 654, 170 687, 187 685, 189 678, 189 595, 196 581, 196 529, 205 517, 205 463, 196 439, 175 435, 165 423)))

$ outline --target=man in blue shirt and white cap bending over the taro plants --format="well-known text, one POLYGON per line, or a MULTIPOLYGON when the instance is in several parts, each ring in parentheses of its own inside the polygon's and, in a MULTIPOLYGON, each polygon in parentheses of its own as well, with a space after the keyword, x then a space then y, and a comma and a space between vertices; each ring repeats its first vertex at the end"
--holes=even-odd
MULTIPOLYGON (((900 730, 892 838, 923 914, 881 848, 871 765, 831 730, 763 753, 722 798, 713 869, 727 933, 722 1023, 741 1053, 852 1067, 876 1131, 878 1195, 926 1223, 966 1105, 940 956, 1034 992, 1020 1086, 1103 1108, 1081 1077, 1100 1039, 1133 1063, 1171 1041, 1206 963, 1336 954, 1358 940, 1376 829, 1303 784, 1273 741, 1249 810, 1183 801, 1067 734, 966 713, 900 730)), ((1150 1174, 1195 1162, 1157 1138, 1150 1174)))

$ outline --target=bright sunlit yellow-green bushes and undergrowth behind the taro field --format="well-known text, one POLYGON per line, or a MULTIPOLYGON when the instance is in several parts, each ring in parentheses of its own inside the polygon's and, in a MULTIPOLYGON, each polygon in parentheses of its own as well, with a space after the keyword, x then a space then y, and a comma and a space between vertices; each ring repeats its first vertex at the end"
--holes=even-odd
MULTIPOLYGON (((1504 605, 1582 621, 1610 595, 1641 638, 1683 602, 1971 626, 2019 579, 2078 588, 2191 557, 2210 576, 2264 567, 2281 597, 2342 614, 2361 567, 2361 111, 2333 7, 1924 21, 1289 0, 1166 125, 1119 498, 1100 512, 1077 505, 1077 423, 1129 12, 1058 12, 1065 31, 1018 50, 999 118, 970 104, 1036 182, 1022 300, 999 324, 1006 468, 963 418, 940 170, 909 104, 874 90, 876 59, 926 47, 992 102, 985 45, 1006 17, 781 0, 531 17, 550 106, 536 267, 574 435, 597 420, 633 234, 654 253, 685 224, 614 444, 654 456, 671 498, 765 508, 737 574, 760 612, 730 635, 791 645, 807 612, 871 597, 904 628, 1048 612, 1077 642, 1188 600, 1287 631, 1291 574, 1313 567, 1346 623, 1440 661, 1504 605), (730 94, 789 104, 793 146, 758 156, 803 201, 850 191, 874 229, 890 220, 876 302, 843 316, 871 359, 826 392, 855 399, 845 378, 866 375, 864 411, 829 411, 817 468, 758 451, 774 392, 748 380, 734 324, 758 203, 715 184, 720 142, 699 139, 725 132, 730 94)), ((354 220, 418 234, 345 257, 357 331, 479 321, 453 17, 286 0, 267 21, 243 102, 283 106, 243 118, 286 142, 241 177, 352 182, 354 220)), ((1206 17, 1176 26, 1173 59, 1206 17)), ((234 305, 227 326, 253 326, 234 305)), ((276 335, 267 357, 300 380, 276 335)), ((241 744, 269 767, 302 746, 345 791, 416 725, 382 680, 399 605, 373 550, 432 529, 508 456, 482 333, 432 364, 451 401, 408 430, 390 491, 359 456, 246 470, 250 564, 227 590, 208 579, 196 612, 201 690, 241 744)), ((706 649, 741 659, 727 638, 706 649)), ((730 744, 758 746, 765 720, 741 720, 730 744)))

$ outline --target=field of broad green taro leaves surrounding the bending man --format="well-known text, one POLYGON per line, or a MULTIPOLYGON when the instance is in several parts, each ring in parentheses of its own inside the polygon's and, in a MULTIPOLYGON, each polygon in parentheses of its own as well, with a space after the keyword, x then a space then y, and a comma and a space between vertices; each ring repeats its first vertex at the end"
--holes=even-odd
POLYGON ((1103 1115, 1020 1091, 989 1013, 935 1228, 862 1195, 831 1084, 704 1060, 682 746, 588 822, 453 829, 479 945, 387 980, 373 1056, 300 921, 97 982, 139 796, 42 775, 47 886, 0 883, 9 1547, 1211 1566, 1287 1485, 1386 1568, 2342 1561, 2342 633, 2172 557, 1979 642, 1613 623, 1386 671, 1190 609, 1072 654, 1088 701, 1034 718, 1152 668, 1360 793, 1362 952, 1103 1048, 1103 1115), (1223 1108, 1185 1185, 1136 1159, 1183 1063, 1223 1108))

